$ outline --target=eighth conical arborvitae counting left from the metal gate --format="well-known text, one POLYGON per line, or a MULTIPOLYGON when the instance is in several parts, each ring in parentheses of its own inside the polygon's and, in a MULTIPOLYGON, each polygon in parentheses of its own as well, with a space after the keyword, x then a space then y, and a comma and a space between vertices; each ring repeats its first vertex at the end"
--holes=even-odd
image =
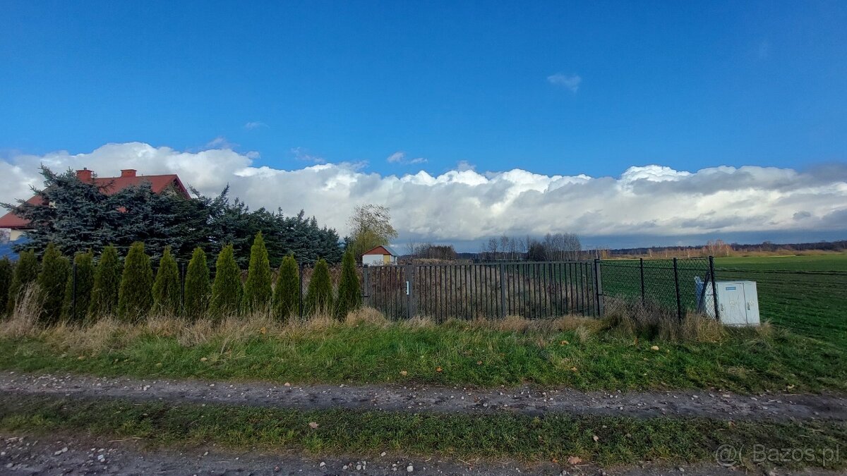
POLYGON ((126 321, 147 317, 153 304, 153 269, 150 257, 144 252, 144 243, 136 241, 124 260, 124 274, 120 280, 118 316, 126 321))

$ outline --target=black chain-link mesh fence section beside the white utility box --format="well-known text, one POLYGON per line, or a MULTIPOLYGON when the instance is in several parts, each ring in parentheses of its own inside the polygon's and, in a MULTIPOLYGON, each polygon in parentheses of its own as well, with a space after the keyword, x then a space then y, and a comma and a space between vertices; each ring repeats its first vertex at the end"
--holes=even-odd
POLYGON ((605 296, 637 299, 680 319, 689 312, 717 317, 712 257, 603 260, 601 268, 605 296))

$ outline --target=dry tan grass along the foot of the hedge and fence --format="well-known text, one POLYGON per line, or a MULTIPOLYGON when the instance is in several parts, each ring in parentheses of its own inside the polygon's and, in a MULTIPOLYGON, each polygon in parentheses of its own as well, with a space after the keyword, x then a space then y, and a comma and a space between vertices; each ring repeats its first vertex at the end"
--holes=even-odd
MULTIPOLYGON (((102 318, 86 324, 59 323, 44 327, 38 324, 41 306, 37 288, 33 286, 22 294, 13 316, 0 323, 0 336, 37 337, 57 348, 97 353, 128 346, 143 335, 174 338, 182 346, 215 342, 220 344, 221 352, 224 352, 232 344, 255 338, 257 335, 280 338, 320 335, 323 331, 335 327, 358 325, 381 329, 397 325, 405 329, 433 329, 443 326, 459 330, 496 330, 528 335, 530 341, 537 340, 535 337, 538 335, 562 331, 572 331, 581 342, 603 332, 626 340, 645 335, 650 339, 696 342, 717 342, 728 335, 728 330, 714 319, 692 314, 680 322, 675 315, 671 315, 672 313, 667 313, 661 308, 645 307, 639 302, 609 300, 606 310, 607 317, 603 319, 571 315, 527 319, 510 315, 501 319, 449 319, 443 324, 437 324, 433 318, 425 316, 394 323, 374 308, 363 307, 349 313, 344 322, 327 313, 286 321, 275 320, 268 313, 255 313, 249 316, 231 315, 216 320, 199 319, 193 322, 180 318, 152 316, 137 324, 121 322, 115 318, 102 318)), ((757 338, 767 338, 772 335, 773 328, 765 323, 760 328, 747 332, 757 338)), ((548 344, 545 339, 538 341, 542 342, 541 346, 548 344)))

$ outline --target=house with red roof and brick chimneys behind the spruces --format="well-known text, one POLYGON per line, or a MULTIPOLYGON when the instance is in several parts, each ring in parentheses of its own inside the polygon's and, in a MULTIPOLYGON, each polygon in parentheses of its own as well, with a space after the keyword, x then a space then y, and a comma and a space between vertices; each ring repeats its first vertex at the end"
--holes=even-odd
MULTIPOLYGON (((149 183, 153 193, 172 193, 174 195, 184 196, 185 198, 191 198, 188 190, 185 189, 185 185, 182 185, 180 177, 176 174, 139 175, 136 169, 123 169, 120 171, 119 177, 95 177, 91 170, 82 169, 76 171, 76 178, 102 187, 101 190, 107 195, 112 195, 130 186, 149 183)), ((32 196, 26 202, 33 205, 49 205, 49 203, 45 202, 44 197, 40 195, 32 196)), ((9 240, 16 241, 27 230, 30 230, 31 227, 28 220, 20 218, 12 211, 0 217, 0 229, 8 229, 9 240)))

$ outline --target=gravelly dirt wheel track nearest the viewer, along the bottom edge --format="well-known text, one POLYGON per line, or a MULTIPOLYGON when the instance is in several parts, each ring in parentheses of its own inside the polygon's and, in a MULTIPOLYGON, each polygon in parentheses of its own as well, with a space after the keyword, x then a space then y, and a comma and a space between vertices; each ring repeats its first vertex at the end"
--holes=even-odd
MULTIPOLYGON (((539 474, 576 476, 734 476, 739 471, 714 462, 662 464, 642 462, 633 466, 603 468, 590 463, 562 465, 553 462, 527 464, 512 460, 467 460, 443 456, 406 457, 401 453, 379 452, 347 456, 312 457, 291 451, 235 451, 220 446, 180 446, 151 449, 136 440, 108 440, 86 434, 30 435, 0 433, 0 473, 10 476, 36 474, 136 476, 139 474, 196 474, 197 476, 260 476, 297 474, 396 475, 433 474, 437 476, 513 476, 539 474), (410 471, 411 469, 411 471, 410 471)), ((771 472, 776 473, 776 472, 771 472)), ((835 476, 834 471, 806 469, 780 470, 780 476, 835 476)))

